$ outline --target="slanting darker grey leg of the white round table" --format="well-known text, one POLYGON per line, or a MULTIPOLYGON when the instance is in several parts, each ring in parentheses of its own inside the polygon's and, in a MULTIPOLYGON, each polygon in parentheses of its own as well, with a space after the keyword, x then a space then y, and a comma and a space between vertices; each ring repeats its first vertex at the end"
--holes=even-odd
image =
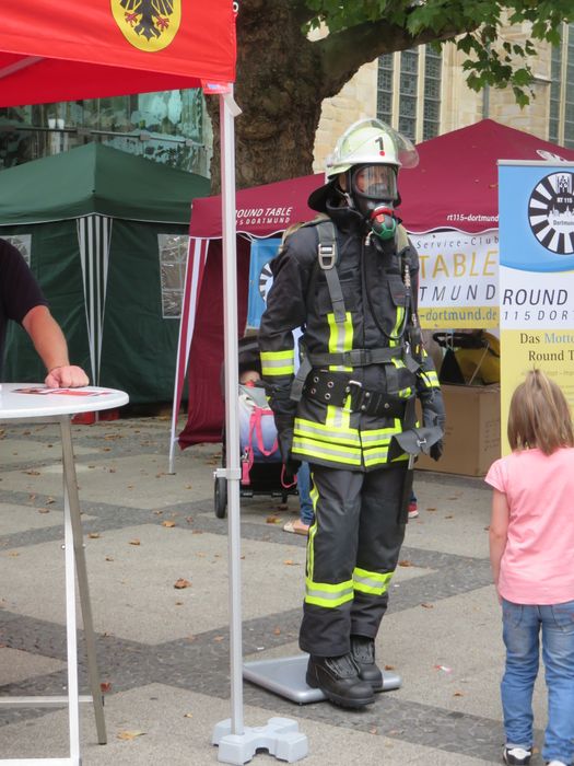
MULTIPOLYGON (((80 605, 82 608, 82 622, 84 626, 84 639, 87 654, 87 675, 94 704, 97 741, 101 745, 104 745, 107 742, 106 722, 104 718, 104 703, 102 698, 102 688, 99 685, 99 673, 97 671, 94 624, 92 619, 92 606, 90 603, 90 589, 87 585, 87 570, 85 566, 82 522, 80 519, 80 498, 78 495, 78 481, 75 477, 75 463, 72 448, 70 418, 68 416, 60 418, 60 432, 62 443, 65 509, 66 507, 69 507, 69 519, 73 536, 73 554, 75 559, 75 572, 78 576, 78 591, 80 594, 80 605)), ((67 541, 67 550, 68 547, 67 541)), ((68 622, 68 626, 70 626, 70 622, 68 622)), ((72 626, 75 631, 75 617, 72 626)), ((74 668, 77 668, 75 664, 74 668)))

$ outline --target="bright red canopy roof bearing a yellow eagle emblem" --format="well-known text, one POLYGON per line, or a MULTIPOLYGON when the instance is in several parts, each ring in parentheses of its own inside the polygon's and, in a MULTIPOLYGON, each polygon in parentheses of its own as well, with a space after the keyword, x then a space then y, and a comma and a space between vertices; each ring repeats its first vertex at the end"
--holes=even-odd
POLYGON ((234 81, 230 0, 177 0, 163 15, 149 35, 138 33, 138 10, 128 14, 119 0, 11 3, 0 26, 2 106, 234 81))

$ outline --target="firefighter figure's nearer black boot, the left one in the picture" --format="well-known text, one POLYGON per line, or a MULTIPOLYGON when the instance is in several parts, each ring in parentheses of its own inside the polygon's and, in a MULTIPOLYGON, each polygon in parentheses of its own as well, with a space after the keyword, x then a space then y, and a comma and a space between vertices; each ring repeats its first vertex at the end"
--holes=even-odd
POLYGON ((362 708, 375 701, 371 684, 361 681, 351 654, 309 657, 307 684, 320 688, 327 699, 345 708, 362 708))

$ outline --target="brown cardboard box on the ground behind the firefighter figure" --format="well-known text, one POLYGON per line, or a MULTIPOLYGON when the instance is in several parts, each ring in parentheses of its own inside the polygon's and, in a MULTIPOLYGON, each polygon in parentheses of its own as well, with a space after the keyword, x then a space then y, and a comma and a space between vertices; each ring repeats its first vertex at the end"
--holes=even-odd
POLYGON ((443 474, 484 476, 501 456, 499 385, 443 384, 446 409, 444 452, 438 462, 422 455, 415 467, 443 474))

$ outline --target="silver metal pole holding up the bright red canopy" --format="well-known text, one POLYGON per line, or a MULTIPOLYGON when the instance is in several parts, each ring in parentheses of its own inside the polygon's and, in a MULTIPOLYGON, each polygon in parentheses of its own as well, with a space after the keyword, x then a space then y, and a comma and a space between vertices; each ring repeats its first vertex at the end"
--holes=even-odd
POLYGON ((225 348, 225 467, 229 499, 230 652, 232 734, 243 734, 242 594, 239 517, 239 417, 237 392, 237 260, 235 240, 235 152, 233 96, 220 96, 225 348))

